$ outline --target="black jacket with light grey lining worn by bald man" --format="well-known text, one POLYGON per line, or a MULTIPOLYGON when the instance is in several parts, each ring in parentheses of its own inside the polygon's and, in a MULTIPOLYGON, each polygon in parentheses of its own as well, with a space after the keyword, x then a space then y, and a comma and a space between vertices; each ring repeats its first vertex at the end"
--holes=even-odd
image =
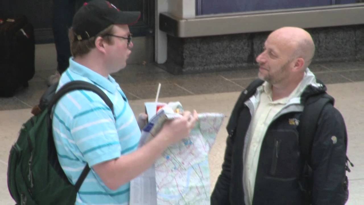
MULTIPOLYGON (((253 205, 306 204, 298 183, 304 166, 297 131, 299 125, 292 123, 292 120, 300 119, 306 97, 326 90, 324 85, 317 86, 312 76, 310 72, 306 75, 305 78, 311 79, 305 79, 307 85, 303 84, 303 86, 307 87, 296 103, 290 101, 291 104, 277 114, 267 129, 258 161, 253 205), (310 85, 312 82, 315 85, 310 85)), ((258 88, 255 96, 259 95, 259 92, 258 88)), ((238 117, 237 129, 226 140, 222 171, 211 195, 211 205, 246 204, 242 178, 243 151, 246 138, 250 137, 251 113, 255 112, 253 104, 258 103, 254 102, 254 99, 253 96, 245 102, 238 117)), ((343 179, 346 138, 343 117, 336 108, 327 104, 318 120, 311 152, 312 204, 341 205, 345 203, 343 179)))

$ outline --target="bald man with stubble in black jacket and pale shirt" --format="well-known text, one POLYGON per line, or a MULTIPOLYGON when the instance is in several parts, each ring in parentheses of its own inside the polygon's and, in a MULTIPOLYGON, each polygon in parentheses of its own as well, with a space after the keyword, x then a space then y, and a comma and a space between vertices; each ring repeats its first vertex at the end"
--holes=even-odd
POLYGON ((232 113, 230 122, 236 127, 228 129, 211 205, 345 203, 347 135, 343 117, 332 104, 325 105, 318 120, 310 180, 301 181, 305 160, 297 130, 300 116, 307 97, 326 91, 308 69, 314 50, 310 34, 301 28, 283 27, 266 39, 256 58, 264 83, 239 113, 232 113))

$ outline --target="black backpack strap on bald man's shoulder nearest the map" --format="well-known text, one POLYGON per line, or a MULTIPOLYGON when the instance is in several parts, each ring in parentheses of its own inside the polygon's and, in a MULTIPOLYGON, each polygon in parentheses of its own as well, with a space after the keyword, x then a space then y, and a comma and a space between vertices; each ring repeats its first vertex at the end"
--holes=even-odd
POLYGON ((232 136, 234 134, 234 131, 237 126, 238 117, 240 115, 240 112, 244 106, 244 102, 248 100, 250 97, 253 96, 253 94, 257 91, 257 88, 263 84, 263 80, 260 80, 259 78, 251 82, 248 87, 243 90, 236 101, 236 104, 234 106, 234 109, 231 113, 229 122, 227 123, 226 129, 229 136, 232 136))

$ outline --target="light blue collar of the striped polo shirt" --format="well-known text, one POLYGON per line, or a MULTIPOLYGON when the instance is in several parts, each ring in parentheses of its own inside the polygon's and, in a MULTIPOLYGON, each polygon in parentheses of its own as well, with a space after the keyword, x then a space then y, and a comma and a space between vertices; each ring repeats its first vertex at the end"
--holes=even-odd
POLYGON ((114 78, 112 78, 110 75, 108 76, 108 78, 105 78, 99 73, 96 73, 95 71, 87 68, 86 66, 83 66, 75 62, 72 57, 70 58, 69 69, 72 72, 79 74, 80 76, 90 79, 96 85, 99 85, 100 87, 106 89, 110 93, 115 93, 117 86, 119 86, 115 82, 114 78))

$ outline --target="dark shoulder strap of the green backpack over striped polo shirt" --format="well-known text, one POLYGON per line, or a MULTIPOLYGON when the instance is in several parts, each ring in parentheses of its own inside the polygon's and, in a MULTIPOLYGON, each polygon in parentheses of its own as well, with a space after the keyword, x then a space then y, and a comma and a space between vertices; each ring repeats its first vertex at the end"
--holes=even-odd
MULTIPOLYGON (((48 126, 48 128, 49 128, 48 136, 52 137, 52 139, 51 139, 52 142, 53 142, 52 120, 51 120, 52 108, 61 97, 63 97, 68 92, 71 92, 74 90, 89 90, 89 91, 92 91, 92 92, 98 94, 98 96, 100 96, 101 99, 106 103, 106 105, 111 109, 112 115, 115 118, 114 106, 113 106, 110 98, 108 98, 107 95, 98 86, 91 84, 89 82, 86 82, 86 81, 71 81, 71 82, 65 84, 64 86, 62 86, 62 88, 58 90, 58 92, 54 95, 54 97, 52 98, 52 100, 50 101, 50 103, 48 105, 48 116, 49 116, 48 121, 50 122, 50 126, 48 126)), ((78 180, 75 184, 75 189, 77 192, 80 189, 80 187, 89 171, 90 171, 90 167, 88 166, 88 164, 86 164, 85 168, 83 169, 80 177, 78 178, 78 180)))

